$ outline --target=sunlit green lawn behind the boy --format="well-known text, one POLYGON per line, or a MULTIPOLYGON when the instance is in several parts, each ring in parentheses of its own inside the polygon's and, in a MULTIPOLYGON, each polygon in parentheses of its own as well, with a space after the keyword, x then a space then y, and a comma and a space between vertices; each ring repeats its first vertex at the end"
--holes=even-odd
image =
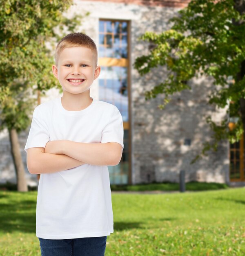
MULTIPOLYGON (((245 188, 112 194, 106 256, 245 255, 245 188)), ((36 191, 0 191, 0 256, 40 256, 36 191)))

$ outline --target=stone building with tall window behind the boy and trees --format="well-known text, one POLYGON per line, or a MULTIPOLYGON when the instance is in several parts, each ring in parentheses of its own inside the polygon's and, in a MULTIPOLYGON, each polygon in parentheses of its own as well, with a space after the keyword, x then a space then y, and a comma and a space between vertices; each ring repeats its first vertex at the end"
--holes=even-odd
MULTIPOLYGON (((239 165, 243 162, 243 154, 239 154, 243 151, 239 150, 243 148, 239 143, 230 147, 227 141, 223 141, 218 152, 190 164, 212 135, 205 117, 211 115, 219 121, 225 114, 207 103, 212 81, 205 77, 189 81, 192 90, 176 94, 165 110, 160 110, 161 96, 145 101, 144 92, 164 79, 163 68, 140 77, 133 67, 135 59, 147 54, 150 47, 139 41, 139 36, 145 31, 160 33, 168 29, 169 18, 188 2, 75 0, 66 14, 72 17, 75 13, 85 15, 89 12, 89 16, 82 20, 80 31, 95 40, 102 67, 99 79, 91 88, 91 97, 113 103, 123 117, 125 148, 120 164, 109 166, 111 184, 178 182, 180 170, 185 170, 186 181, 244 181, 243 166, 239 165), (230 162, 231 166, 236 166, 231 171, 230 162)), ((49 97, 58 96, 56 94, 52 90, 49 97)), ((20 135, 22 148, 26 136, 25 132, 20 135)), ((14 174, 11 155, 7 153, 9 147, 7 133, 2 132, 0 182, 11 180, 8 175, 14 174)), ((24 150, 22 154, 25 159, 24 150)))

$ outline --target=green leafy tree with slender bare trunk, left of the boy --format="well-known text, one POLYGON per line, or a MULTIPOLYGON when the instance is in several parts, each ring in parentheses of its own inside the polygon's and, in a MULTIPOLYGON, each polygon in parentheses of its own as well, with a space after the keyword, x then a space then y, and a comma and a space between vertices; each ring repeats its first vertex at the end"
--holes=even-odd
POLYGON ((0 0, 0 124, 7 128, 18 191, 27 191, 18 132, 30 124, 36 91, 56 86, 53 44, 72 32, 81 16, 64 16, 71 0, 0 0), (49 43, 49 44, 48 44, 49 43))

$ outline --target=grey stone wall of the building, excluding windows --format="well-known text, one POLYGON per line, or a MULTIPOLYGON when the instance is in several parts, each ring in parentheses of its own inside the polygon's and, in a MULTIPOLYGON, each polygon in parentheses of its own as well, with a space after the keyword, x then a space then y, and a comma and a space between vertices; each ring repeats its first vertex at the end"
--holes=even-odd
MULTIPOLYGON (((165 70, 155 69, 140 77, 132 67, 138 56, 148 52, 148 44, 138 41, 138 37, 145 31, 161 32, 168 29, 168 20, 176 15, 178 9, 115 1, 76 0, 66 15, 72 17, 74 13, 87 11, 90 15, 83 19, 80 31, 91 36, 97 44, 100 18, 130 21, 132 182, 178 182, 180 170, 186 171, 187 181, 228 182, 227 142, 220 143, 217 153, 190 165, 190 161, 200 153, 203 142, 212 135, 205 123, 205 116, 212 115, 218 121, 224 115, 222 110, 217 112, 207 103, 212 81, 203 77, 189 81, 192 90, 176 94, 165 110, 160 110, 158 105, 162 96, 145 101, 144 92, 164 79, 165 70)), ((98 99, 97 81, 91 88, 91 96, 98 99)), ((26 133, 22 133, 20 139, 24 148, 26 133)), ((9 147, 6 132, 3 132, 0 137, 0 182, 7 179, 6 173, 15 176, 9 147)), ((25 151, 22 150, 22 154, 25 161, 25 151)), ((30 175, 28 171, 27 175, 30 175)))

